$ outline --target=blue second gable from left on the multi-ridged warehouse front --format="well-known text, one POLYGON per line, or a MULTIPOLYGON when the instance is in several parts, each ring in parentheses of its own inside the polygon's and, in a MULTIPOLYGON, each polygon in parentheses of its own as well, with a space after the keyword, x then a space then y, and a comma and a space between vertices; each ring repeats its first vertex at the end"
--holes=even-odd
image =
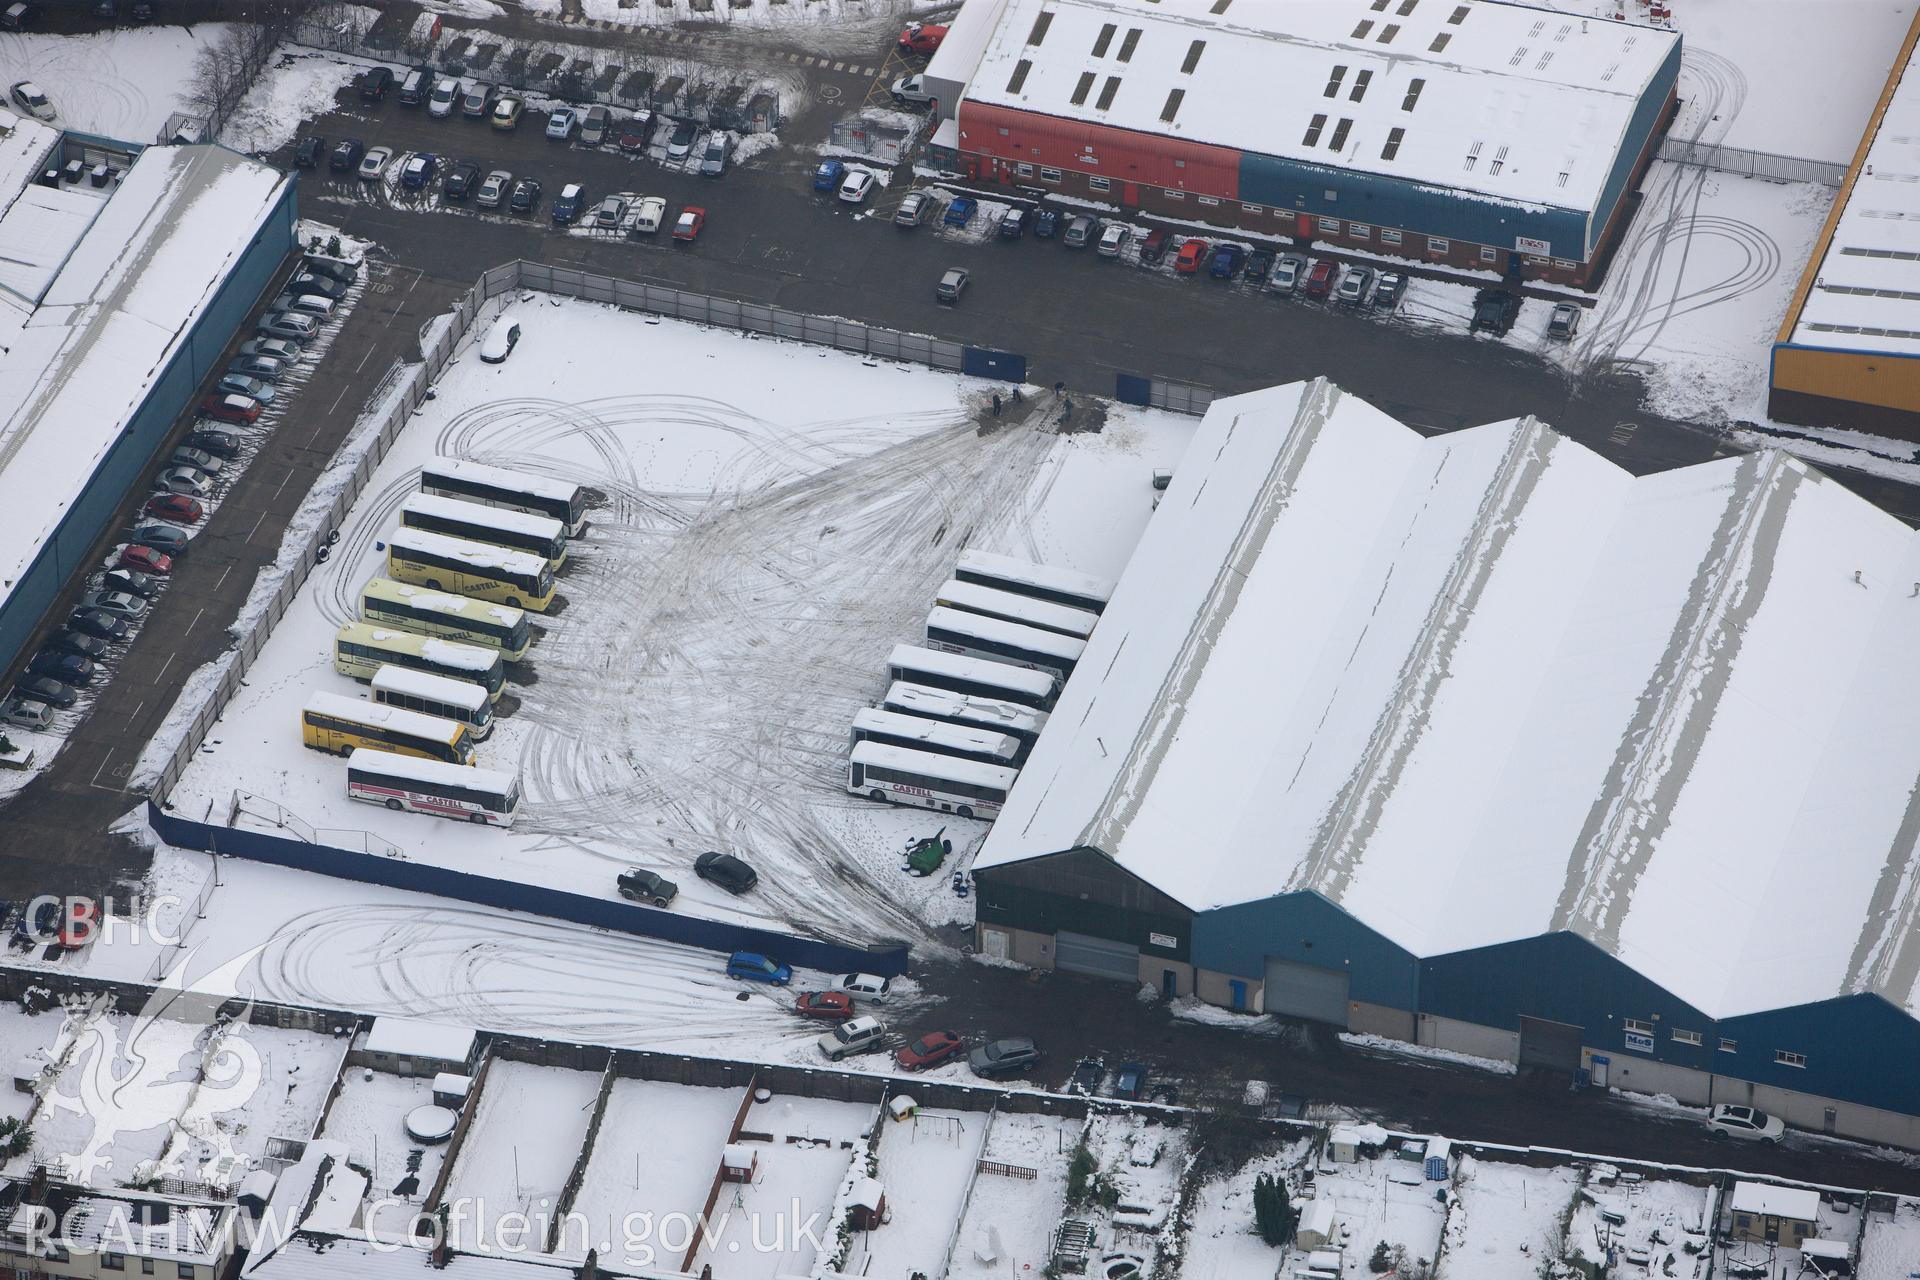
POLYGON ((1350 996, 1394 1009, 1415 1009, 1419 961, 1317 892, 1290 892, 1196 912, 1192 961, 1202 969, 1252 981, 1265 977, 1267 956, 1352 975, 1350 996))

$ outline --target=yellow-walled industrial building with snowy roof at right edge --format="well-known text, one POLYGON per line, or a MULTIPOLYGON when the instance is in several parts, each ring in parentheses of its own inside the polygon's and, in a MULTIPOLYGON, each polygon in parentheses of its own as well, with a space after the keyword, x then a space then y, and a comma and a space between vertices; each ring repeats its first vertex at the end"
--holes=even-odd
POLYGON ((1774 338, 1766 413, 1920 439, 1920 13, 1774 338))

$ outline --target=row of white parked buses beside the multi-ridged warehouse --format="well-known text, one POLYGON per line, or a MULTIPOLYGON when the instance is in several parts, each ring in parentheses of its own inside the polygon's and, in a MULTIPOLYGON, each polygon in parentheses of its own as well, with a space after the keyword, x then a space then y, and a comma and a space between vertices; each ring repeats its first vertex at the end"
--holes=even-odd
POLYGON ((925 645, 895 645, 887 697, 854 716, 847 791, 996 818, 1112 597, 1100 578, 960 553, 925 645))

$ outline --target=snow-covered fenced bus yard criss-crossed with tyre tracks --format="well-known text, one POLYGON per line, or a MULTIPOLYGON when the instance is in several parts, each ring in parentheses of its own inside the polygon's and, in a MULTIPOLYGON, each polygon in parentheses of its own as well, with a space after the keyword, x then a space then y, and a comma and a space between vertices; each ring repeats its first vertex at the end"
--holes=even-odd
MULTIPOLYGON (((839 938, 916 938, 964 919, 948 875, 908 877, 902 860, 945 827, 947 871, 960 869, 985 823, 849 794, 849 729, 891 685, 924 683, 899 679, 889 656, 929 643, 929 610, 952 612, 943 583, 991 593, 950 581, 964 551, 1116 578, 1152 510, 1154 472, 1177 461, 1192 422, 1114 409, 1104 430, 1064 434, 1052 397, 995 418, 989 384, 958 374, 557 297, 503 309, 518 344, 501 363, 476 359, 493 317, 476 322, 169 806, 599 898, 641 867, 678 885, 672 910, 839 938), (641 353, 639 365, 614 351, 641 353), (580 535, 557 547, 551 601, 495 591, 480 604, 509 624, 526 606, 520 660, 445 637, 432 654, 403 654, 434 658, 442 676, 459 674, 449 654, 472 660, 468 679, 484 685, 501 674, 497 700, 472 708, 486 735, 461 733, 451 754, 516 779, 511 829, 351 802, 349 766, 303 745, 315 699, 369 706, 336 670, 338 643, 401 631, 367 618, 369 583, 394 599, 384 583, 411 576, 415 603, 436 593, 434 572, 399 568, 390 549, 445 537, 422 516, 445 516, 447 489, 422 501, 420 472, 449 459, 588 495, 580 535), (396 533, 403 520, 413 528, 396 533), (745 860, 758 885, 741 896, 708 885, 693 869, 705 852, 745 860)), ((1050 635, 1050 647, 1079 643, 1050 635)), ((492 643, 511 652, 516 641, 492 643)), ((1016 697, 1021 681, 1054 683, 993 668, 1016 697)), ((419 714, 432 685, 401 683, 382 693, 397 706, 371 714, 419 714)), ((1035 704, 975 697, 981 706, 1016 733, 1041 723, 1035 704)))

